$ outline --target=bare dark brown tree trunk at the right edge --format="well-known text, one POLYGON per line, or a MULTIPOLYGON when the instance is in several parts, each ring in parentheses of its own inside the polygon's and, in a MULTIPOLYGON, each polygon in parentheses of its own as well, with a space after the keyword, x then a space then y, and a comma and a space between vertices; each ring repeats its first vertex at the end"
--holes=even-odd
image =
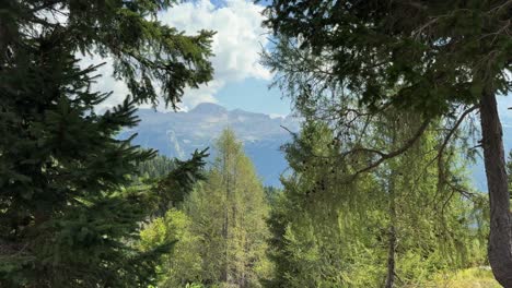
POLYGON ((491 88, 482 93, 480 120, 490 202, 489 263, 496 279, 512 288, 512 229, 503 133, 491 88))

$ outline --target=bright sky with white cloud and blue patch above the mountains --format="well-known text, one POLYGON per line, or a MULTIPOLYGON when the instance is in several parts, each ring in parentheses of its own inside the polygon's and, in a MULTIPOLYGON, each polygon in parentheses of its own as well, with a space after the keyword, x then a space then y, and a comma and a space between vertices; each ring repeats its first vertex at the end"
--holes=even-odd
MULTIPOLYGON (((193 109, 199 103, 217 103, 228 109, 264 112, 268 115, 290 113, 290 100, 281 97, 275 87, 269 89, 272 80, 270 71, 260 61, 261 47, 267 47, 269 31, 261 26, 265 3, 255 4, 246 0, 195 0, 186 1, 159 14, 159 19, 186 34, 194 35, 200 29, 213 29, 210 60, 216 70, 213 80, 199 89, 186 89, 184 110, 193 109)), ((85 59, 85 64, 109 62, 109 59, 85 59)), ((112 74, 112 65, 103 67, 98 72, 112 74)), ((97 83, 100 91, 113 91, 114 94, 103 105, 112 107, 128 94, 124 83, 104 76, 97 83)), ((500 113, 511 119, 512 97, 500 97, 500 113)), ((141 107, 147 108, 147 107, 141 107)), ((164 110, 165 107, 159 107, 164 110)), ((512 121, 510 121, 512 124, 512 121)))

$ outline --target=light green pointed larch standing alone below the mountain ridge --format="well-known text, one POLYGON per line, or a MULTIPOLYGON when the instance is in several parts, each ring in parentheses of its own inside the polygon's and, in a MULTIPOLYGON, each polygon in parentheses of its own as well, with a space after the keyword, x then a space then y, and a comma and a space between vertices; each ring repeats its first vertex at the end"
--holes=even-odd
POLYGON ((232 130, 217 142, 207 180, 185 204, 193 232, 201 237, 203 279, 259 287, 269 268, 265 257, 268 204, 260 179, 232 130))

